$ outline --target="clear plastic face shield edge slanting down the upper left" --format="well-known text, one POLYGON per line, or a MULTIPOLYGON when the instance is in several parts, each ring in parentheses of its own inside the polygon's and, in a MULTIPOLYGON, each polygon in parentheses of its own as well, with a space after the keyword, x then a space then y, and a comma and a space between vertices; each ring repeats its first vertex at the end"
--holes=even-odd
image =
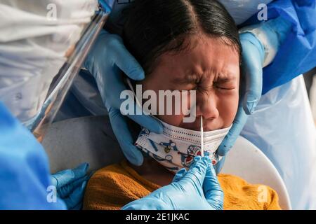
POLYGON ((42 141, 49 125, 65 99, 74 77, 81 69, 81 64, 93 45, 96 37, 105 25, 109 15, 108 8, 100 6, 91 23, 82 31, 79 41, 67 51, 67 61, 62 65, 58 74, 53 78, 44 104, 37 116, 25 124, 39 141, 42 141))

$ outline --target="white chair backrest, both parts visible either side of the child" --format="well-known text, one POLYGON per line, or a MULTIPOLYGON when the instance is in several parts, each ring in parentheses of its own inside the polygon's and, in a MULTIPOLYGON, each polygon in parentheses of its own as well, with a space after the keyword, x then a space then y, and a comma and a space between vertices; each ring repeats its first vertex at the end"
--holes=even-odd
MULTIPOLYGON (((124 159, 107 116, 74 118, 53 123, 42 142, 50 160, 51 172, 77 167, 88 162, 100 169, 124 159)), ((250 141, 239 137, 223 167, 249 183, 275 189, 282 209, 291 209, 287 188, 270 160, 250 141)))

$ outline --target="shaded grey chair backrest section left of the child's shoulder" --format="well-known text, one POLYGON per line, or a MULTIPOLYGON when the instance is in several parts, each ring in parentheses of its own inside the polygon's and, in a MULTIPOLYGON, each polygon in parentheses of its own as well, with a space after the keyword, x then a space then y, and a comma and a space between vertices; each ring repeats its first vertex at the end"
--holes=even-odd
POLYGON ((91 170, 124 159, 107 116, 73 118, 53 123, 42 141, 51 172, 88 162, 91 170))

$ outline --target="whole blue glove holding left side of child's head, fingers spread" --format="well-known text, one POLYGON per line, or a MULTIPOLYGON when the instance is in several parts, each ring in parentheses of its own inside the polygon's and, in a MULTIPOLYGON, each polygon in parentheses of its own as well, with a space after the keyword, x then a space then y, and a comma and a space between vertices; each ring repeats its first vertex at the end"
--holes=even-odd
MULTIPOLYGON (((96 78, 101 97, 109 112, 112 129, 125 157, 133 165, 142 165, 143 155, 133 145, 133 138, 129 132, 126 118, 121 115, 119 110, 121 102, 124 102, 124 99, 119 100, 119 96, 123 90, 126 90, 121 71, 124 71, 133 80, 142 80, 145 78, 142 67, 126 50, 120 36, 108 34, 104 30, 101 31, 89 52, 84 66, 96 78)), ((137 105, 134 106, 136 108, 137 105)), ((162 124, 150 116, 128 117, 152 132, 162 133, 162 124)))

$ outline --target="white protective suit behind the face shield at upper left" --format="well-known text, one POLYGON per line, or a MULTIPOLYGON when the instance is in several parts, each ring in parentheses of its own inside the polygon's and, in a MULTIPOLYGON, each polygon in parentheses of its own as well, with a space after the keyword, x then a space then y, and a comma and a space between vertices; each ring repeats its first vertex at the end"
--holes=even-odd
POLYGON ((0 1, 0 100, 22 123, 44 103, 97 0, 0 1))

